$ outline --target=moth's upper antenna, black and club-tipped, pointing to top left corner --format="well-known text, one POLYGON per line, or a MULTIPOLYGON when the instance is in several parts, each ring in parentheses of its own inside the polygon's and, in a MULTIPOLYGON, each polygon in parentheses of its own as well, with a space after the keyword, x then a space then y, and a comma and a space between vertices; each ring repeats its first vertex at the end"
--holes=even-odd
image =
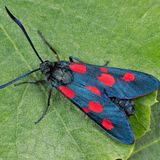
POLYGON ((36 53, 37 57, 39 58, 39 60, 43 63, 42 58, 39 56, 37 50, 35 49, 31 39, 29 38, 29 35, 26 31, 26 29, 24 28, 23 24, 9 11, 9 9, 7 7, 5 7, 9 17, 21 28, 21 30, 23 31, 24 35, 26 36, 29 44, 31 45, 32 49, 34 50, 34 52, 36 53))

